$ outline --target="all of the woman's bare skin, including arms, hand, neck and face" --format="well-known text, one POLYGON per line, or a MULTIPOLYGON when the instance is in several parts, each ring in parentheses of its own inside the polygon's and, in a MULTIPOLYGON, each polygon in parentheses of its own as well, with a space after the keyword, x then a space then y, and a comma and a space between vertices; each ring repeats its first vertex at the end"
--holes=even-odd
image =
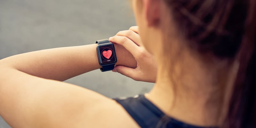
MULTIPOLYGON (((221 119, 216 118, 219 113, 225 116, 237 64, 207 60, 187 48, 186 40, 170 25, 174 24, 172 16, 162 0, 133 0, 132 3, 139 28, 131 27, 109 38, 115 43, 118 60, 113 71, 134 80, 155 82, 145 96, 165 114, 189 124, 220 125, 221 119), (166 42, 172 48, 171 54, 164 51, 166 42), (166 58, 174 60, 180 47, 179 60, 185 64, 176 60, 178 64, 171 70, 166 58), (126 54, 129 59, 123 60, 126 54), (185 72, 179 76, 181 69, 185 72), (174 75, 170 75, 171 71, 174 75), (172 77, 182 83, 173 81, 172 77), (223 87, 225 95, 221 96, 215 90, 216 84, 223 83, 228 84, 223 87), (223 109, 218 109, 220 106, 223 109)), ((0 60, 0 115, 14 128, 139 127, 116 101, 60 82, 101 68, 96 46, 49 49, 0 60)))

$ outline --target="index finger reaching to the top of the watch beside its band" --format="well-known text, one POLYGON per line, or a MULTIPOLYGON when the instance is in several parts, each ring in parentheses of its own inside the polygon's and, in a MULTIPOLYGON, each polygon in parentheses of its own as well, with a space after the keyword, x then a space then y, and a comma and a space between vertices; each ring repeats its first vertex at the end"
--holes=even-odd
POLYGON ((124 46, 126 50, 131 52, 134 58, 136 58, 141 51, 141 48, 137 44, 125 36, 113 36, 109 38, 109 41, 124 46))

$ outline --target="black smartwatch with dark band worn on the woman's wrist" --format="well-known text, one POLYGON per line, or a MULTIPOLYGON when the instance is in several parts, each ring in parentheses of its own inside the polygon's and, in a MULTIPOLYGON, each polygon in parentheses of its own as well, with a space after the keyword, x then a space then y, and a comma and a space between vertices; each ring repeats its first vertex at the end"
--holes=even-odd
POLYGON ((96 41, 97 54, 100 66, 100 71, 110 71, 113 70, 116 64, 116 51, 113 43, 110 43, 108 39, 96 41))

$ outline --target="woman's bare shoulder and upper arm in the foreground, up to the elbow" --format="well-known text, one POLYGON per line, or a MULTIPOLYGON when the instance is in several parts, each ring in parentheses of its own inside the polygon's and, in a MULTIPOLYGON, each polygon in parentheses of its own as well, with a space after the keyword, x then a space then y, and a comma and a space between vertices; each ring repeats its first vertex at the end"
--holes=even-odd
POLYGON ((138 127, 121 105, 97 92, 14 69, 3 78, 0 115, 14 128, 138 127))

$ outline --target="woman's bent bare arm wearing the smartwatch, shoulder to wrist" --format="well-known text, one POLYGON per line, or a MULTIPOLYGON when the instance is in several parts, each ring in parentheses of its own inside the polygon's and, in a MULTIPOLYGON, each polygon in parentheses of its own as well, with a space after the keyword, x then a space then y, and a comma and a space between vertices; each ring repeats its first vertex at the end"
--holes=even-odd
MULTIPOLYGON (((42 50, 0 60, 0 115, 12 127, 26 128, 103 127, 132 121, 115 101, 60 82, 100 68, 96 46, 42 50)), ((115 47, 116 65, 136 67, 131 53, 121 45, 115 47)))

